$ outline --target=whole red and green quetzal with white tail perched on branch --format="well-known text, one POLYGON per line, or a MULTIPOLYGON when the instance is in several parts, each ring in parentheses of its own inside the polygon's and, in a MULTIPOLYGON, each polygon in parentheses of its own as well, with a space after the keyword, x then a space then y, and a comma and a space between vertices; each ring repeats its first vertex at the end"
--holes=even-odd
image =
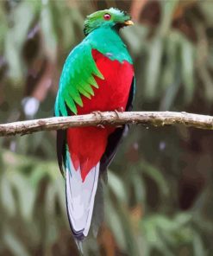
MULTIPOLYGON (((72 49, 60 76, 55 101, 57 117, 131 109, 134 68, 119 30, 132 24, 126 12, 114 8, 87 16, 85 39, 72 49)), ((125 125, 57 131, 58 162, 66 177, 67 214, 76 240, 83 240, 89 232, 99 193, 97 184, 114 157, 124 130, 125 125)))

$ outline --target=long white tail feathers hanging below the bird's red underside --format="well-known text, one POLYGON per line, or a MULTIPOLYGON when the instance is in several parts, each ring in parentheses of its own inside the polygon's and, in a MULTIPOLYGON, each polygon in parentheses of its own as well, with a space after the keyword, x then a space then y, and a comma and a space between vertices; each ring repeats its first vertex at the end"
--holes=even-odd
POLYGON ((66 207, 72 232, 77 240, 83 240, 89 233, 94 207, 99 163, 93 167, 85 181, 82 181, 80 169, 75 170, 70 159, 70 170, 66 169, 66 207))

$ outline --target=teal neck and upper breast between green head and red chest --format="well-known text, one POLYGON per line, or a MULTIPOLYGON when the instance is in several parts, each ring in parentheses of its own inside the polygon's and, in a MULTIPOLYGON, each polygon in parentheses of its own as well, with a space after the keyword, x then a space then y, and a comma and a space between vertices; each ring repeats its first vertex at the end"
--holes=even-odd
POLYGON ((107 54, 110 60, 128 61, 132 64, 128 49, 116 29, 95 29, 85 39, 91 43, 92 48, 96 48, 102 54, 107 54))

